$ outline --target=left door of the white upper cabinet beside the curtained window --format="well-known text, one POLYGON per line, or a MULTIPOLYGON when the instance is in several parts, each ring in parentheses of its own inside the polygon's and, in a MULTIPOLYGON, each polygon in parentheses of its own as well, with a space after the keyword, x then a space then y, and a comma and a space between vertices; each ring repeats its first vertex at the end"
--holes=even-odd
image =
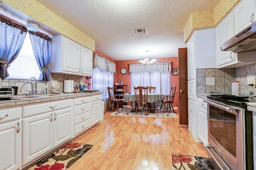
POLYGON ((78 73, 80 68, 80 45, 66 37, 62 38, 62 70, 78 73))

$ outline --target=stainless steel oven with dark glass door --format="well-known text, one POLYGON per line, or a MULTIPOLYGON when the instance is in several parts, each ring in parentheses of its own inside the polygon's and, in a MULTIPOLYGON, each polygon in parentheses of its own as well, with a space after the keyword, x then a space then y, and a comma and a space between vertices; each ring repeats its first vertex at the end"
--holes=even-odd
POLYGON ((208 98, 206 149, 210 162, 215 169, 253 170, 252 112, 247 111, 244 101, 234 101, 234 96, 208 98))

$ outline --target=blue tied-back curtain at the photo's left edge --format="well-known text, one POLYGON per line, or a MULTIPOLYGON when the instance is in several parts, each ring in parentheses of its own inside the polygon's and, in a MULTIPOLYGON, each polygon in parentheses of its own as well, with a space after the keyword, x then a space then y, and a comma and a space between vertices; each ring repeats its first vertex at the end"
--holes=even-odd
POLYGON ((8 66, 18 57, 27 29, 0 16, 0 77, 9 76, 8 66))

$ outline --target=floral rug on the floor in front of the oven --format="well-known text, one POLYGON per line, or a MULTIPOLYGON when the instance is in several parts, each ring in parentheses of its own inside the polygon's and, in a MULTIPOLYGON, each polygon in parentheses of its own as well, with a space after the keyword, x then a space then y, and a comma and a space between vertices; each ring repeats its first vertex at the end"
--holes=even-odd
POLYGON ((172 153, 172 170, 214 170, 208 158, 172 153))

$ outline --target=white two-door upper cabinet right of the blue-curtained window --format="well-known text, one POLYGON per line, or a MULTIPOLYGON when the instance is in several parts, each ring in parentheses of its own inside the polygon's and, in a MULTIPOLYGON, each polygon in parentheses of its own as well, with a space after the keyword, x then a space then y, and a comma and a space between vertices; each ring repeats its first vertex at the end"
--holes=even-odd
POLYGON ((52 37, 50 72, 92 76, 92 50, 62 35, 52 37))

